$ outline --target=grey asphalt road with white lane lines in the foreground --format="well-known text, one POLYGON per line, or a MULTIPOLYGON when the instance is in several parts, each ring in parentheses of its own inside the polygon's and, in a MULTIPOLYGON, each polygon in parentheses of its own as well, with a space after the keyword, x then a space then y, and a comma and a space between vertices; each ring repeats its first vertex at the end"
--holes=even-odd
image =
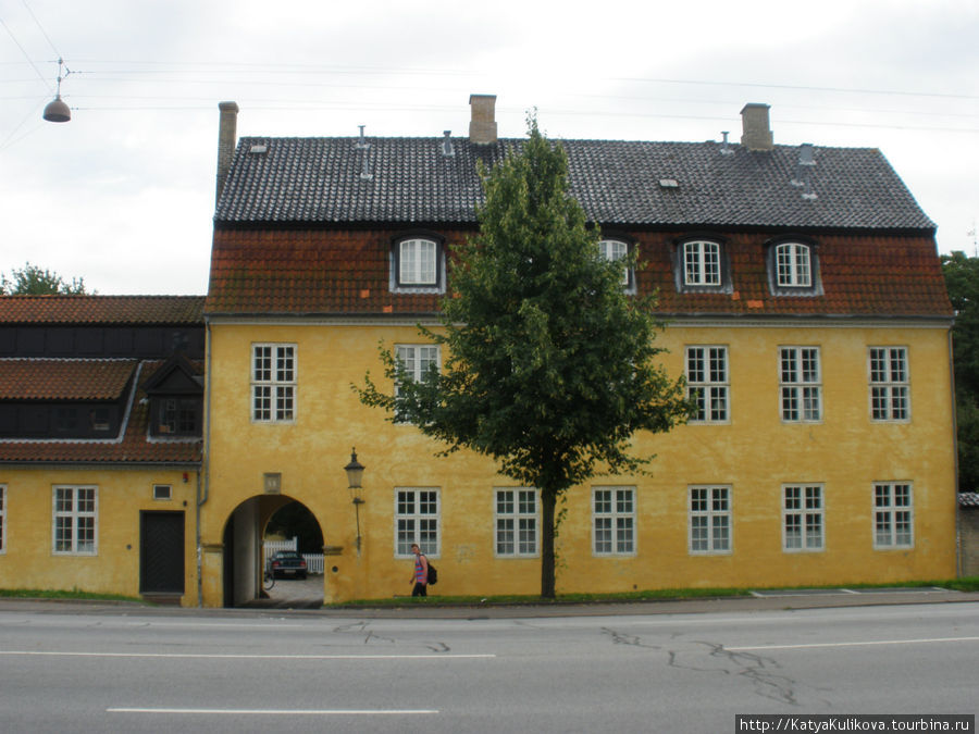
POLYGON ((0 611, 7 732, 731 732, 976 713, 979 604, 456 619, 0 611))

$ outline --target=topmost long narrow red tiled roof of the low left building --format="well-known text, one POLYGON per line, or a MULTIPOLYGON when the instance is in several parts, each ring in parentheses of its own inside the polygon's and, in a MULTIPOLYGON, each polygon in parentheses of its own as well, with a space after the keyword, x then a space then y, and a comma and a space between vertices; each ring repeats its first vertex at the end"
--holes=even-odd
POLYGON ((0 324, 201 324, 203 296, 0 296, 0 324))

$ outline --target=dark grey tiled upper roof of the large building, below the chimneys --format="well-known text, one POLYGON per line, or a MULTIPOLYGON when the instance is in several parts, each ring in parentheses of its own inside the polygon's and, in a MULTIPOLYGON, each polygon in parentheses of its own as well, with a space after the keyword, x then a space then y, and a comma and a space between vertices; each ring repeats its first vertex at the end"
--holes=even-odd
MULTIPOLYGON (((364 151, 356 138, 241 138, 216 221, 471 225, 482 201, 476 162, 492 165, 522 145, 453 138, 447 157, 442 138, 368 141, 364 151), (267 152, 250 152, 256 146, 267 152)), ((877 149, 816 147, 815 165, 800 166, 789 146, 730 145, 724 154, 717 142, 560 144, 572 194, 604 226, 934 228, 877 149), (809 188, 792 183, 804 178, 809 188)))

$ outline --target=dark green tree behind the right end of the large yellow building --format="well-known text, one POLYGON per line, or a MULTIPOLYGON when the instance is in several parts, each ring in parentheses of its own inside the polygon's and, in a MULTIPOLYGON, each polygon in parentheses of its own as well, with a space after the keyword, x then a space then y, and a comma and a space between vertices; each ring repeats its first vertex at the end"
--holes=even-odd
POLYGON ((979 258, 942 256, 955 326, 955 412, 958 424, 958 488, 979 492, 979 258))

